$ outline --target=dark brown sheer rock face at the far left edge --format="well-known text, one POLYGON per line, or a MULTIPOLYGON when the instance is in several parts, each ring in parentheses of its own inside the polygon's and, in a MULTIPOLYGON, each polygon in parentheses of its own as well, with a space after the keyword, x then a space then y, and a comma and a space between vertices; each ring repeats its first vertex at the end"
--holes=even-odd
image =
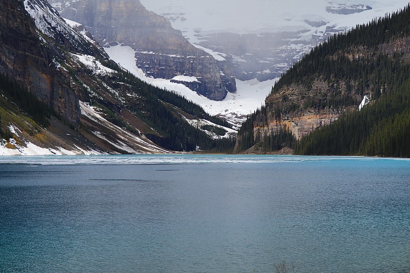
POLYGON ((0 9, 0 72, 34 92, 72 127, 78 128, 78 99, 56 70, 53 60, 50 49, 40 43, 34 22, 23 3, 3 1, 0 9))

